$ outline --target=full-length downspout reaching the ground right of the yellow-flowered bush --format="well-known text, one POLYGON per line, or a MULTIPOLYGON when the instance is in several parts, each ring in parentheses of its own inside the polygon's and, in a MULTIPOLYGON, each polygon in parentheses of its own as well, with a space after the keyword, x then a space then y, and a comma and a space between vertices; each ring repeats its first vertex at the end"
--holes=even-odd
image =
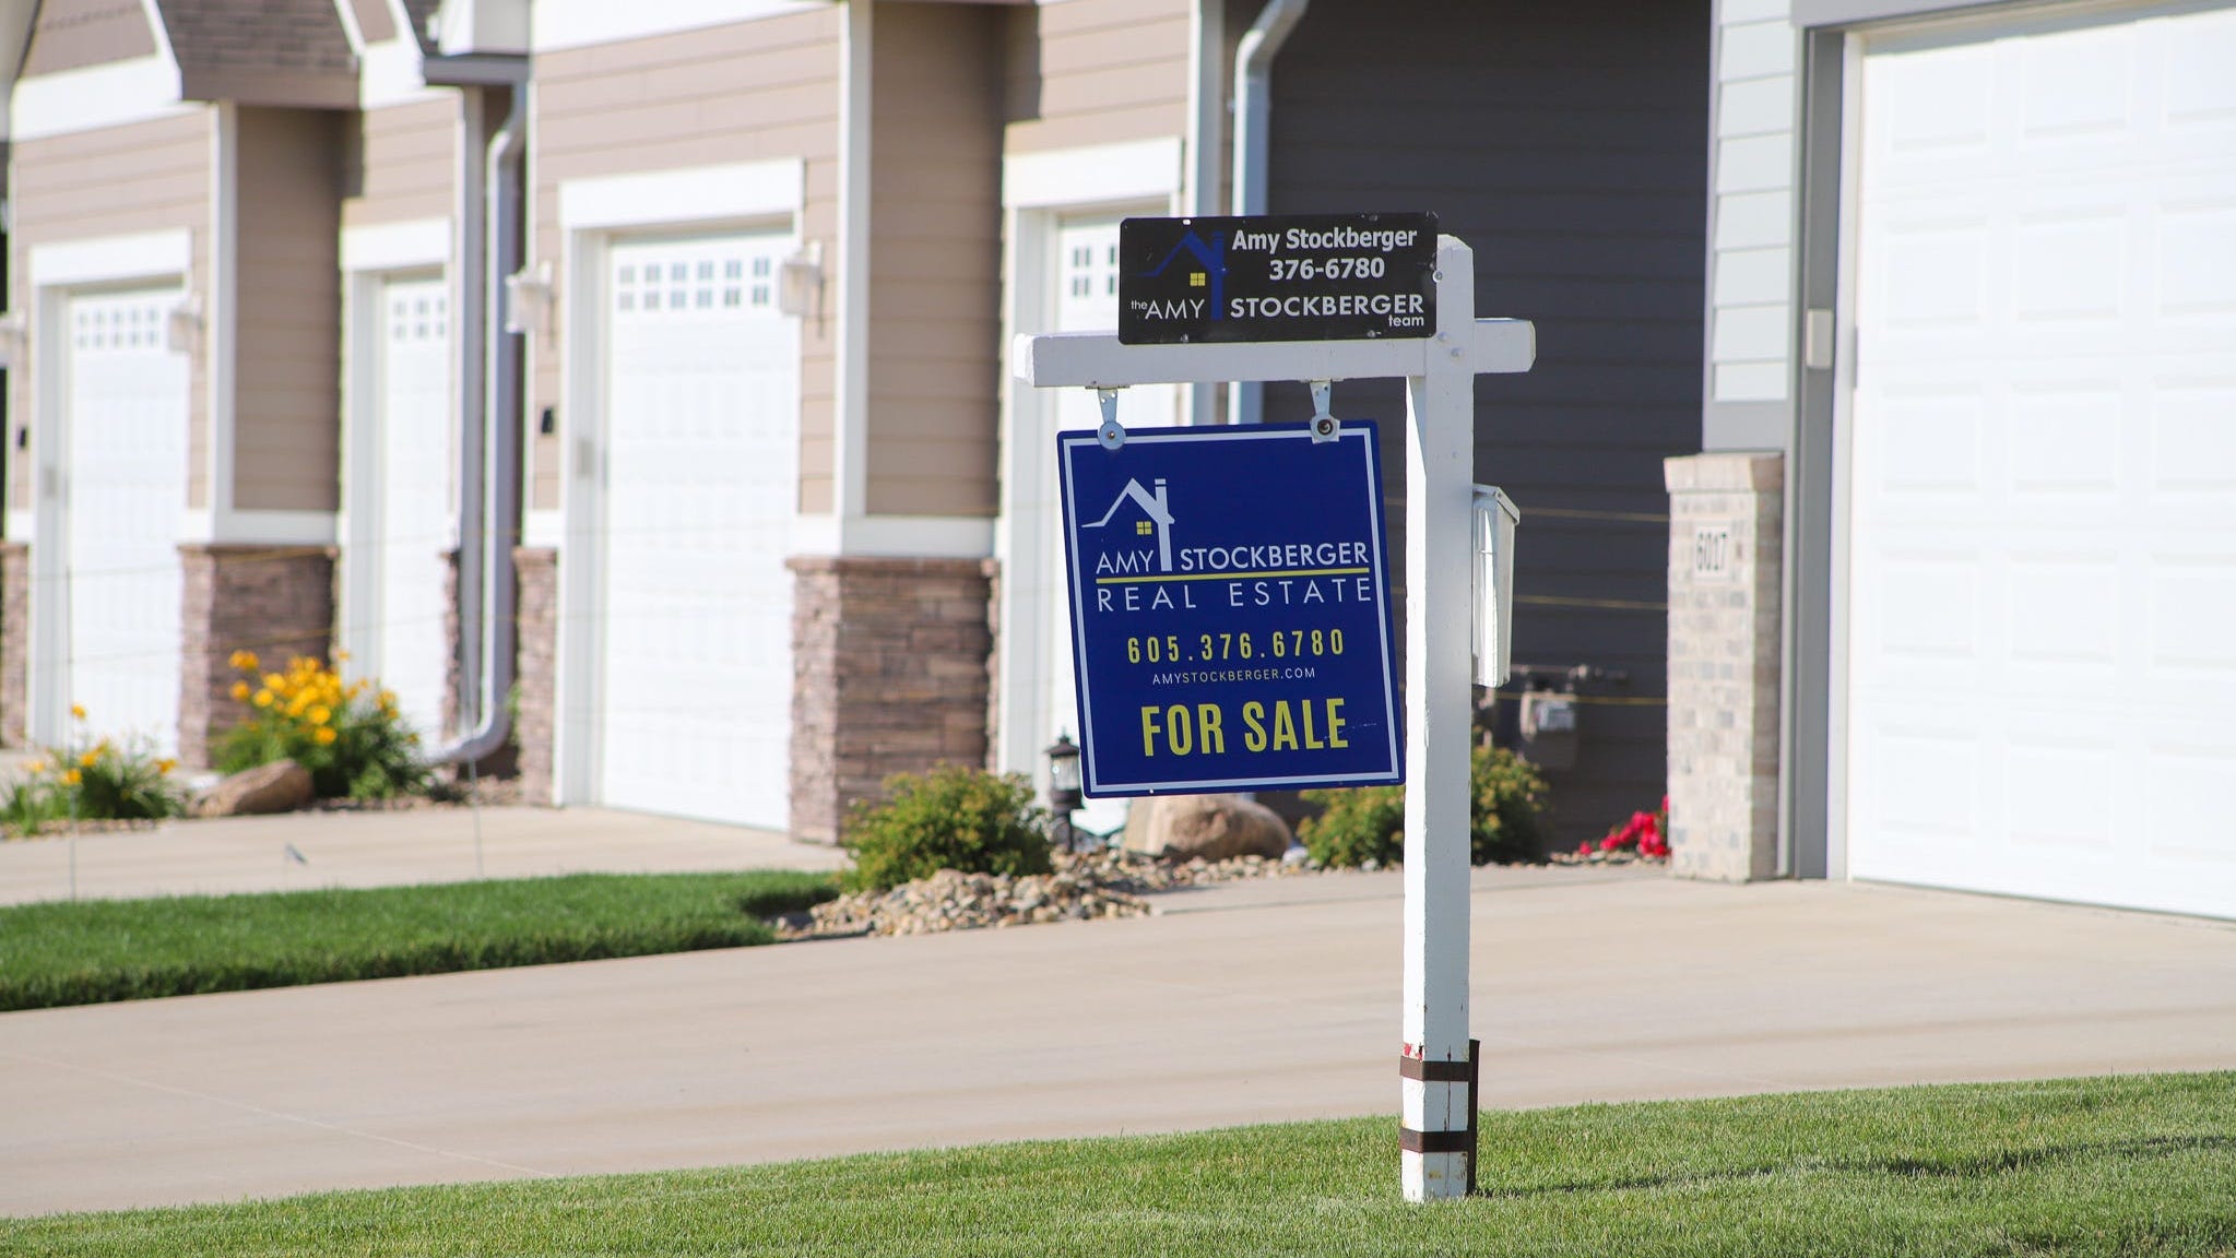
POLYGON ((505 277, 521 268, 521 127, 528 116, 525 78, 510 83, 505 123, 490 136, 481 172, 483 275, 476 302, 483 344, 481 395, 465 395, 461 416, 479 411, 481 425, 458 425, 458 646, 461 677, 474 695, 474 728, 429 753, 432 764, 470 764, 505 744, 512 713, 512 534, 521 518, 521 344, 505 331, 499 302, 505 277), (474 684, 479 682, 479 686, 474 684))

